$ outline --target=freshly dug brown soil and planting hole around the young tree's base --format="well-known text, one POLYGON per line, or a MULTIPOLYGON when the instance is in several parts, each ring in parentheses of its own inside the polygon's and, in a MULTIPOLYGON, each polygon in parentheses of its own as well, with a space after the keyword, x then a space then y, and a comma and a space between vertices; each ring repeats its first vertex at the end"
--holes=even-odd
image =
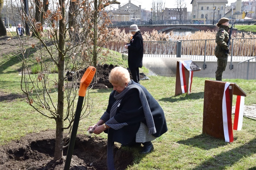
MULTIPOLYGON (((63 158, 54 161, 55 131, 27 134, 20 140, 0 147, 1 170, 63 170, 67 148, 63 158)), ((132 153, 114 147, 115 167, 122 170, 132 163, 132 153)), ((77 135, 70 165, 71 170, 105 170, 106 140, 77 135)))

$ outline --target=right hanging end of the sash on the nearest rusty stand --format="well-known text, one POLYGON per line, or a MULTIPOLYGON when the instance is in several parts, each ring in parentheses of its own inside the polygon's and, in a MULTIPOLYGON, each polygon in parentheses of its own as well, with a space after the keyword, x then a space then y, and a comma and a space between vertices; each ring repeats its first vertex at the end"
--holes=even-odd
POLYGON ((233 130, 241 131, 243 124, 244 96, 237 96, 233 130))

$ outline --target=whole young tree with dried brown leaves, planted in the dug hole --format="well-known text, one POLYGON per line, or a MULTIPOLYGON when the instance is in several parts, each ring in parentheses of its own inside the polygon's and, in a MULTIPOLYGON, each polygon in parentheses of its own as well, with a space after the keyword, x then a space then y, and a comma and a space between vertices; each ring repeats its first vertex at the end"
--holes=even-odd
MULTIPOLYGON (((73 125, 78 82, 81 79, 78 71, 88 66, 96 66, 97 70, 98 54, 111 35, 107 27, 110 20, 103 7, 109 2, 53 0, 53 7, 47 10, 44 2, 47 0, 33 0, 37 8, 35 16, 27 16, 23 2, 21 4, 21 20, 29 23, 35 37, 12 38, 16 39, 20 48, 17 55, 22 62, 21 89, 27 96, 26 102, 56 122, 54 160, 58 160, 63 156, 63 148, 68 144, 73 125), (43 29, 41 16, 49 23, 47 30, 43 29), (74 38, 76 36, 79 37, 74 38)), ((29 14, 33 9, 29 6, 29 14)), ((104 52, 103 56, 107 53, 104 52)), ((90 113, 89 103, 87 95, 81 119, 90 113)))

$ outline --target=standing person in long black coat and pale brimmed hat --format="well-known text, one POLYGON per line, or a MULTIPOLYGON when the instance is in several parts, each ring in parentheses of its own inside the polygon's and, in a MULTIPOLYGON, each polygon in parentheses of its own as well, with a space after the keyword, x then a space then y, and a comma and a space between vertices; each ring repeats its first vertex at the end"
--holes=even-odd
POLYGON ((133 81, 140 84, 139 67, 142 67, 143 38, 136 24, 130 26, 129 32, 133 36, 131 37, 130 44, 125 45, 125 48, 128 49, 128 67, 133 81))

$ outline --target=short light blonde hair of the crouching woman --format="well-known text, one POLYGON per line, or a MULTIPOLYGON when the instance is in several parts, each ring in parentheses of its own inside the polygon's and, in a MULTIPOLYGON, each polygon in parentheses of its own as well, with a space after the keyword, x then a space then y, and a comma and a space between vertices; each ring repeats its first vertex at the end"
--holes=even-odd
POLYGON ((124 85, 130 82, 130 73, 126 68, 115 67, 111 70, 109 74, 109 82, 124 85))

